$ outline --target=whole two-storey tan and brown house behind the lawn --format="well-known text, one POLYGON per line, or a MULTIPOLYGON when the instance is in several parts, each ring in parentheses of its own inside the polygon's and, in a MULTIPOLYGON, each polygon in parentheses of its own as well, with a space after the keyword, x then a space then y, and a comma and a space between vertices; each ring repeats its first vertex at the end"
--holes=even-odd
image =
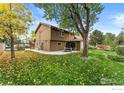
POLYGON ((79 51, 83 45, 81 36, 45 23, 38 25, 35 34, 35 48, 38 50, 57 51, 71 47, 79 51))

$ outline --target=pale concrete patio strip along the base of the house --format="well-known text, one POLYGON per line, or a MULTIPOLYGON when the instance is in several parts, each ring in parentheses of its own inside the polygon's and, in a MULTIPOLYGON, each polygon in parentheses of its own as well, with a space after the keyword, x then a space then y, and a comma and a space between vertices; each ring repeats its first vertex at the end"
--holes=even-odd
POLYGON ((38 53, 41 53, 41 54, 49 54, 49 55, 65 55, 65 54, 70 54, 70 53, 74 53, 74 52, 79 52, 79 51, 64 52, 64 50, 51 51, 51 52, 43 51, 43 50, 36 50, 36 49, 26 49, 26 50, 33 51, 33 52, 38 52, 38 53))

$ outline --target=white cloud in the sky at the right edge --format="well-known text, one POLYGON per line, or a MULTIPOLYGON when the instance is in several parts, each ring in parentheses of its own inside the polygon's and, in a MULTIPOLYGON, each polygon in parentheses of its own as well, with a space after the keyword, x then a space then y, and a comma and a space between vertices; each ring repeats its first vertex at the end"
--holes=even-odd
POLYGON ((112 17, 112 20, 116 25, 124 26, 124 13, 115 15, 114 17, 112 17))

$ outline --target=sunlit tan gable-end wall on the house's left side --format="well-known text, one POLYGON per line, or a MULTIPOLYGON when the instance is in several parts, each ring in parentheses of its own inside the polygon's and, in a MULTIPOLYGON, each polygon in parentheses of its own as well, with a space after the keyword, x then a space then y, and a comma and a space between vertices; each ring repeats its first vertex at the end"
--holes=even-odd
POLYGON ((51 39, 50 26, 41 25, 36 33, 35 48, 39 50, 50 50, 50 39, 51 39))

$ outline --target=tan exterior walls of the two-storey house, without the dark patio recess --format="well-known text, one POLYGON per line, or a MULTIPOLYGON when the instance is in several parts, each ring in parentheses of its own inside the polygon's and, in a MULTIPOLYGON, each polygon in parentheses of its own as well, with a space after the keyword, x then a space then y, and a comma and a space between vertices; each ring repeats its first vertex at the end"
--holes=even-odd
MULTIPOLYGON (((66 43, 73 40, 74 35, 63 31, 64 35, 60 36, 60 31, 49 25, 40 25, 36 32, 35 49, 45 51, 64 50, 66 43)), ((72 42, 75 42, 75 50, 80 50, 80 41, 72 42)))

